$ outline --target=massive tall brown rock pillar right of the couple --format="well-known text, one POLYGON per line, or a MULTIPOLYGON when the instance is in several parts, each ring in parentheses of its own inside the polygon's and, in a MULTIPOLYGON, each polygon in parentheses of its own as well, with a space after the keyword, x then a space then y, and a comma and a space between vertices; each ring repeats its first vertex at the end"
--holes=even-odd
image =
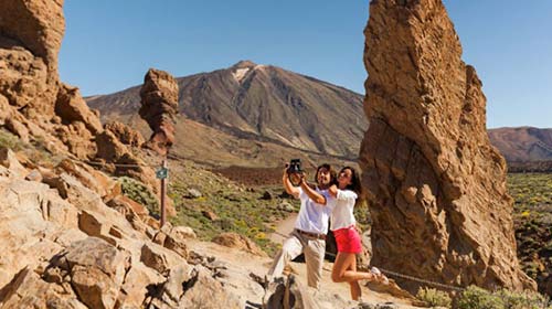
MULTIPOLYGON (((363 185, 372 264, 454 286, 534 289, 520 270, 503 158, 440 0, 371 1, 363 185)), ((417 283, 401 286, 416 291, 417 283)))

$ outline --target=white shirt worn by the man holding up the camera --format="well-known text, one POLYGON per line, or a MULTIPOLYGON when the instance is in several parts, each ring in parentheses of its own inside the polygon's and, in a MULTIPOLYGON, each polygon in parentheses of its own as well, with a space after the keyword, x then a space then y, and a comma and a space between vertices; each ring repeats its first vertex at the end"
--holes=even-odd
POLYGON ((328 190, 315 189, 316 192, 326 198, 326 205, 318 204, 307 195, 302 188, 299 187, 298 189, 301 207, 295 221, 295 228, 309 233, 327 234, 328 221, 336 206, 336 199, 330 195, 328 190))

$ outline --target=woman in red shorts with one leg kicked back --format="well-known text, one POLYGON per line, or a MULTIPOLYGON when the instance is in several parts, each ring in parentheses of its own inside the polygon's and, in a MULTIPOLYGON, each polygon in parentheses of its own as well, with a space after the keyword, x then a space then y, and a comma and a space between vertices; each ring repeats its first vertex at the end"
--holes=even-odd
POLYGON ((337 202, 331 214, 330 226, 338 245, 331 279, 333 283, 349 283, 351 297, 358 300, 361 296, 359 280, 389 283, 388 278, 375 267, 372 267, 370 273, 357 271, 357 254, 362 252, 353 214, 357 198, 361 192, 359 174, 351 167, 342 168, 338 174, 338 184, 330 187, 328 192, 336 198, 337 202))

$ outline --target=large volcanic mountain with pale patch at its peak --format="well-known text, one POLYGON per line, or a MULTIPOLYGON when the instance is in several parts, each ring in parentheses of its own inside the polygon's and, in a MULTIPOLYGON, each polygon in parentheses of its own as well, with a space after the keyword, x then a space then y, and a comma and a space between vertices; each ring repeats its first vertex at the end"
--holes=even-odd
MULTIPOLYGON (((179 119, 173 154, 215 164, 354 161, 368 122, 363 97, 346 88, 272 65, 241 61, 177 78, 179 119), (287 159, 286 159, 287 158, 287 159)), ((120 120, 149 137, 138 116, 140 86, 88 97, 102 120, 120 120)))

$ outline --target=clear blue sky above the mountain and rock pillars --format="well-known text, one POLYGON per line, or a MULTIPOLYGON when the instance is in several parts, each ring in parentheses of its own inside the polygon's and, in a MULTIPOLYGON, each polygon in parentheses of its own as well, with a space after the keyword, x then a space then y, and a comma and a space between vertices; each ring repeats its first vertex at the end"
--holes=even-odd
MULTIPOLYGON (((487 126, 552 127, 552 1, 445 0, 487 96, 487 126)), ((240 60, 360 94, 368 0, 65 1, 60 74, 83 95, 185 76, 240 60)))

